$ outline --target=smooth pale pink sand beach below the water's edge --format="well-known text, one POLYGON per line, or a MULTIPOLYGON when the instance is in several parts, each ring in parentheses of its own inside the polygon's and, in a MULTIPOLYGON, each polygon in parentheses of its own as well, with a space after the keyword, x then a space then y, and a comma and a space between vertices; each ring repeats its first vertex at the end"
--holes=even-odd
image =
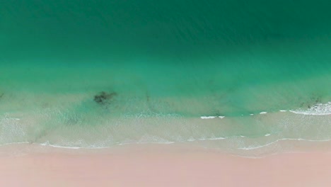
POLYGON ((0 157, 0 186, 330 186, 330 176, 330 152, 250 159, 197 147, 130 145, 0 157))

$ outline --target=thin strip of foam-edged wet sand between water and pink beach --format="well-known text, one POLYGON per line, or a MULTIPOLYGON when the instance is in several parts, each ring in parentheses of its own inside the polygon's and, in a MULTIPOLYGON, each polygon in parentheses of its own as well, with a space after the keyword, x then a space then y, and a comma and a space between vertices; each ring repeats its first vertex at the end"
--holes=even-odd
MULTIPOLYGON (((243 136, 242 136, 243 137, 243 136)), ((125 149, 124 147, 195 147, 196 149, 209 150, 214 152, 220 152, 223 154, 230 154, 235 157, 243 157, 250 159, 258 159, 263 157, 269 157, 277 154, 286 153, 301 153, 301 152, 319 152, 330 150, 331 152, 331 140, 305 140, 295 138, 282 138, 279 140, 273 140, 265 145, 250 146, 250 147, 218 147, 219 144, 215 140, 226 140, 224 138, 211 139, 211 140, 194 140, 187 142, 133 142, 123 143, 117 145, 111 145, 108 147, 66 147, 60 145, 52 145, 49 142, 45 143, 31 143, 31 142, 13 142, 4 145, 0 145, 0 157, 1 155, 12 156, 13 150, 22 154, 30 154, 31 152, 44 152, 45 150, 54 150, 55 152, 101 152, 112 149, 125 149)), ((228 143, 228 142, 226 142, 228 143)))

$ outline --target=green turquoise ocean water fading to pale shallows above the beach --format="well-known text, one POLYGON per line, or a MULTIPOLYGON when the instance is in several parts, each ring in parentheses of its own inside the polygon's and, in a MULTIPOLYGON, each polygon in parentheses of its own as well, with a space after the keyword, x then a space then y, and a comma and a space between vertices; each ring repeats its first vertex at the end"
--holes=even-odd
POLYGON ((329 140, 330 7, 1 1, 0 144, 329 140))

